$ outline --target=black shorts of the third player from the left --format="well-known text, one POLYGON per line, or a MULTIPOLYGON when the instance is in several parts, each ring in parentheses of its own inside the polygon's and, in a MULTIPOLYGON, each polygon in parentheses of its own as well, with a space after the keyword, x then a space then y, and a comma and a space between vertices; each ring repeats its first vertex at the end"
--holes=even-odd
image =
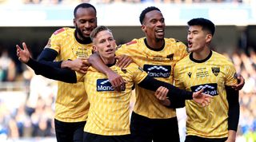
POLYGON ((150 119, 132 112, 130 132, 134 142, 179 142, 177 117, 150 119))

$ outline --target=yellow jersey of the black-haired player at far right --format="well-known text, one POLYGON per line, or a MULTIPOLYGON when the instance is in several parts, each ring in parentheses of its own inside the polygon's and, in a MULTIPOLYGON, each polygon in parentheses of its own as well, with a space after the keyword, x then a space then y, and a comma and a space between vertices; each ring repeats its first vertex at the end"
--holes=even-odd
POLYGON ((186 133, 206 138, 227 137, 229 105, 225 85, 237 84, 234 65, 214 51, 203 61, 194 60, 192 54, 175 65, 174 84, 193 92, 204 89, 213 99, 207 107, 186 101, 186 133))

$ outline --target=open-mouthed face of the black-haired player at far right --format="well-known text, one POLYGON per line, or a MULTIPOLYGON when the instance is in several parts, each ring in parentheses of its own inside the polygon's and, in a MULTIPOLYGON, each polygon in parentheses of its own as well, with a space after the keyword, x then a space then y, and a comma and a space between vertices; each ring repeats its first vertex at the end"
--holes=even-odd
POLYGON ((202 30, 202 26, 190 26, 187 34, 188 51, 189 52, 201 52, 208 48, 212 34, 202 30))

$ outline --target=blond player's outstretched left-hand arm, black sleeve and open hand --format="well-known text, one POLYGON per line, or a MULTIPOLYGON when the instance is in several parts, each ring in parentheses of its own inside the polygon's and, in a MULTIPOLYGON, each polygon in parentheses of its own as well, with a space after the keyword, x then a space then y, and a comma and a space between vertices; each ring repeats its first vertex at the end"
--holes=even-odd
POLYGON ((77 82, 76 74, 73 70, 54 68, 50 65, 35 61, 30 57, 30 52, 27 49, 25 42, 22 43, 22 47, 23 49, 19 45, 16 45, 18 60, 29 65, 31 69, 34 69, 34 73, 58 81, 65 81, 68 83, 77 82))

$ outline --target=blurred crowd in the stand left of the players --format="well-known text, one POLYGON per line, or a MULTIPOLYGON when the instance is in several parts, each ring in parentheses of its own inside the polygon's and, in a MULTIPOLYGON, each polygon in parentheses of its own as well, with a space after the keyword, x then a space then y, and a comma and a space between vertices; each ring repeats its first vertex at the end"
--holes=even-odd
POLYGON ((0 141, 55 136, 57 83, 35 75, 26 65, 21 68, 19 73, 18 64, 8 56, 8 50, 0 49, 0 141), (11 82, 21 81, 22 86, 11 88, 11 82), (7 82, 9 86, 5 89, 7 82))

